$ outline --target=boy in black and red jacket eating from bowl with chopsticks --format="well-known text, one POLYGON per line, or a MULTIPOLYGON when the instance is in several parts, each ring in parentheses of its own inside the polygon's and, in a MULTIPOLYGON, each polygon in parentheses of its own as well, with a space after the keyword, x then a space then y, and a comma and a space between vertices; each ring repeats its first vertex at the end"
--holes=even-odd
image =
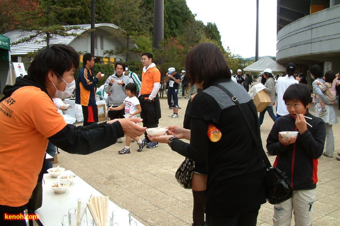
POLYGON ((284 171, 293 196, 274 205, 273 225, 312 225, 312 205, 318 182, 318 158, 326 139, 325 123, 308 112, 310 90, 306 85, 292 84, 283 95, 289 114, 278 118, 267 138, 270 155, 276 155, 273 166, 284 171), (281 131, 298 131, 297 137, 284 140, 281 131), (294 211, 293 211, 294 210, 294 211))

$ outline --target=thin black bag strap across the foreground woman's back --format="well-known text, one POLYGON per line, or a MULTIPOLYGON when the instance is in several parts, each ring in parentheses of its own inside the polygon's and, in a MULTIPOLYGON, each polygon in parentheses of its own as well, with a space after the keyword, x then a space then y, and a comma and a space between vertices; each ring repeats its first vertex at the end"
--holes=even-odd
POLYGON ((264 149, 263 149, 262 144, 258 141, 257 136, 256 136, 256 134, 255 134, 255 132, 254 132, 254 129, 253 129, 252 126, 250 125, 250 122, 249 122, 247 116, 246 116, 245 113, 243 112, 242 107, 241 107, 241 105, 240 105, 239 102, 238 102, 238 98, 235 97, 234 95, 232 95, 232 94, 229 92, 229 90, 227 90, 225 87, 221 86, 220 84, 215 84, 214 86, 216 86, 216 87, 220 88, 221 90, 223 90, 223 91, 224 91, 224 92, 225 92, 225 93, 226 93, 226 94, 234 101, 234 103, 238 106, 238 109, 239 109, 239 111, 240 111, 240 112, 242 113, 242 115, 243 115, 244 121, 246 122, 246 124, 247 124, 247 126, 248 126, 248 128, 249 128, 249 131, 250 131, 250 133, 252 134, 252 137, 253 137, 253 139, 254 139, 254 141, 255 141, 255 143, 256 143, 256 146, 257 146, 257 150, 260 152, 260 155, 261 155, 261 157, 262 157, 264 163, 266 164, 267 169, 271 168, 271 167, 272 167, 272 164, 271 164, 271 162, 269 161, 267 155, 265 154, 265 151, 264 151, 264 149))

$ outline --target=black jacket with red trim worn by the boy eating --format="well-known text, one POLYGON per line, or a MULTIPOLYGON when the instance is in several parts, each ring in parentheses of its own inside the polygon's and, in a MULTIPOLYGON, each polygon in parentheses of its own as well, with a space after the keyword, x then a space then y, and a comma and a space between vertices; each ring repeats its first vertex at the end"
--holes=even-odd
POLYGON ((271 155, 276 155, 274 166, 286 172, 290 185, 294 191, 310 190, 316 188, 318 182, 318 158, 323 153, 326 139, 325 123, 321 118, 309 112, 306 116, 312 128, 307 125, 303 134, 298 134, 294 144, 284 146, 279 142, 281 131, 298 131, 295 119, 289 114, 279 117, 267 138, 267 149, 271 155))

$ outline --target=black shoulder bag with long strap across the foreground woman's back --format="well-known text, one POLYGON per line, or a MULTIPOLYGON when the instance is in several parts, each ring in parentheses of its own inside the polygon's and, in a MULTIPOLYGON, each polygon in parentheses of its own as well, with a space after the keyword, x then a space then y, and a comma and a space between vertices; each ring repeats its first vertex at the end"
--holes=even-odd
POLYGON ((278 204, 283 201, 288 200, 293 196, 293 190, 290 186, 288 178, 285 172, 282 172, 276 167, 273 167, 271 162, 263 150, 262 144, 260 144, 259 139, 255 135, 254 129, 250 125, 245 113, 243 112, 240 104, 238 103, 238 98, 232 95, 226 88, 221 86, 220 84, 215 84, 214 86, 223 90, 238 106, 239 111, 242 113, 243 118, 249 128, 250 133, 256 143, 257 150, 260 152, 260 155, 267 167, 267 174, 265 178, 265 186, 266 186, 266 199, 270 204, 278 204))

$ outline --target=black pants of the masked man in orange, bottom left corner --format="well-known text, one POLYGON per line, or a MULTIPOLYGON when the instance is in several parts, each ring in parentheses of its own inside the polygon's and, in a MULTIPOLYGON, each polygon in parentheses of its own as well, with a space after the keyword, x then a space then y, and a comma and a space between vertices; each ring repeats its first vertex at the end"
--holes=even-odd
POLYGON ((2 206, 0 205, 0 226, 26 226, 26 220, 6 220, 4 219, 7 214, 22 214, 24 215, 24 210, 26 210, 27 205, 23 205, 21 207, 10 207, 10 206, 2 206))

